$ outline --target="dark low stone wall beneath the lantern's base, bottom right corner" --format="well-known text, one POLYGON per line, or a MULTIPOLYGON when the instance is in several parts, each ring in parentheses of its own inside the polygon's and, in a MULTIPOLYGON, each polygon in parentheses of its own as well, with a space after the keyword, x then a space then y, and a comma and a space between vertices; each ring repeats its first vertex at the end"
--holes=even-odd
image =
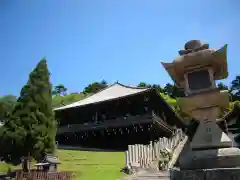
POLYGON ((170 170, 170 180, 240 180, 240 168, 170 170))

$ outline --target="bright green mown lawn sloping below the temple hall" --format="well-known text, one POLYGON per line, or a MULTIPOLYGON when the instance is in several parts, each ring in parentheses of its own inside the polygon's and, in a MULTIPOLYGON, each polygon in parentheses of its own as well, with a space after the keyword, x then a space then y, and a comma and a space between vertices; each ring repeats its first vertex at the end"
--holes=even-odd
MULTIPOLYGON (((122 152, 90 152, 59 150, 60 171, 74 172, 76 180, 116 180, 124 174, 124 153, 122 152)), ((0 171, 7 171, 9 165, 0 163, 0 171)), ((12 167, 15 169, 16 167, 12 167)))

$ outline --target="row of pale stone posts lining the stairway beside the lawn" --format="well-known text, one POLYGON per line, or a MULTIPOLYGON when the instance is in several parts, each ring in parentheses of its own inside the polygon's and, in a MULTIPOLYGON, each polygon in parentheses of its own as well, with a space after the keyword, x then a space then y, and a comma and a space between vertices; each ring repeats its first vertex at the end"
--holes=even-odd
POLYGON ((173 152, 185 135, 182 130, 177 130, 171 138, 159 138, 157 142, 150 142, 149 145, 135 144, 129 145, 125 152, 125 167, 132 169, 134 167, 147 168, 155 161, 160 160, 164 150, 173 152))

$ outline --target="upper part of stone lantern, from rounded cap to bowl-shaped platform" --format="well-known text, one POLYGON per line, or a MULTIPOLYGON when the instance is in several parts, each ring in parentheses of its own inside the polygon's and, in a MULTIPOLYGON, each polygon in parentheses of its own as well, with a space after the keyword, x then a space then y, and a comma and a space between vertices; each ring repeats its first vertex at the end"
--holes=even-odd
POLYGON ((182 111, 195 119, 215 120, 220 110, 228 108, 228 92, 216 87, 216 80, 228 76, 226 52, 227 45, 216 50, 192 40, 172 63, 162 63, 175 84, 184 89, 186 97, 178 100, 182 111))

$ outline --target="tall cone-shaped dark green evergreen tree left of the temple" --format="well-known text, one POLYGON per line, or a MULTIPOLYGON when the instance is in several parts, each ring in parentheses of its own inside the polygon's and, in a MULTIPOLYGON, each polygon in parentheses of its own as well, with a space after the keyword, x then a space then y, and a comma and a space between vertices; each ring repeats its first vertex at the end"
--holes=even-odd
POLYGON ((44 153, 55 150, 56 121, 49 76, 44 58, 30 73, 9 120, 0 132, 0 151, 6 161, 16 164, 28 154, 39 159, 44 153))

